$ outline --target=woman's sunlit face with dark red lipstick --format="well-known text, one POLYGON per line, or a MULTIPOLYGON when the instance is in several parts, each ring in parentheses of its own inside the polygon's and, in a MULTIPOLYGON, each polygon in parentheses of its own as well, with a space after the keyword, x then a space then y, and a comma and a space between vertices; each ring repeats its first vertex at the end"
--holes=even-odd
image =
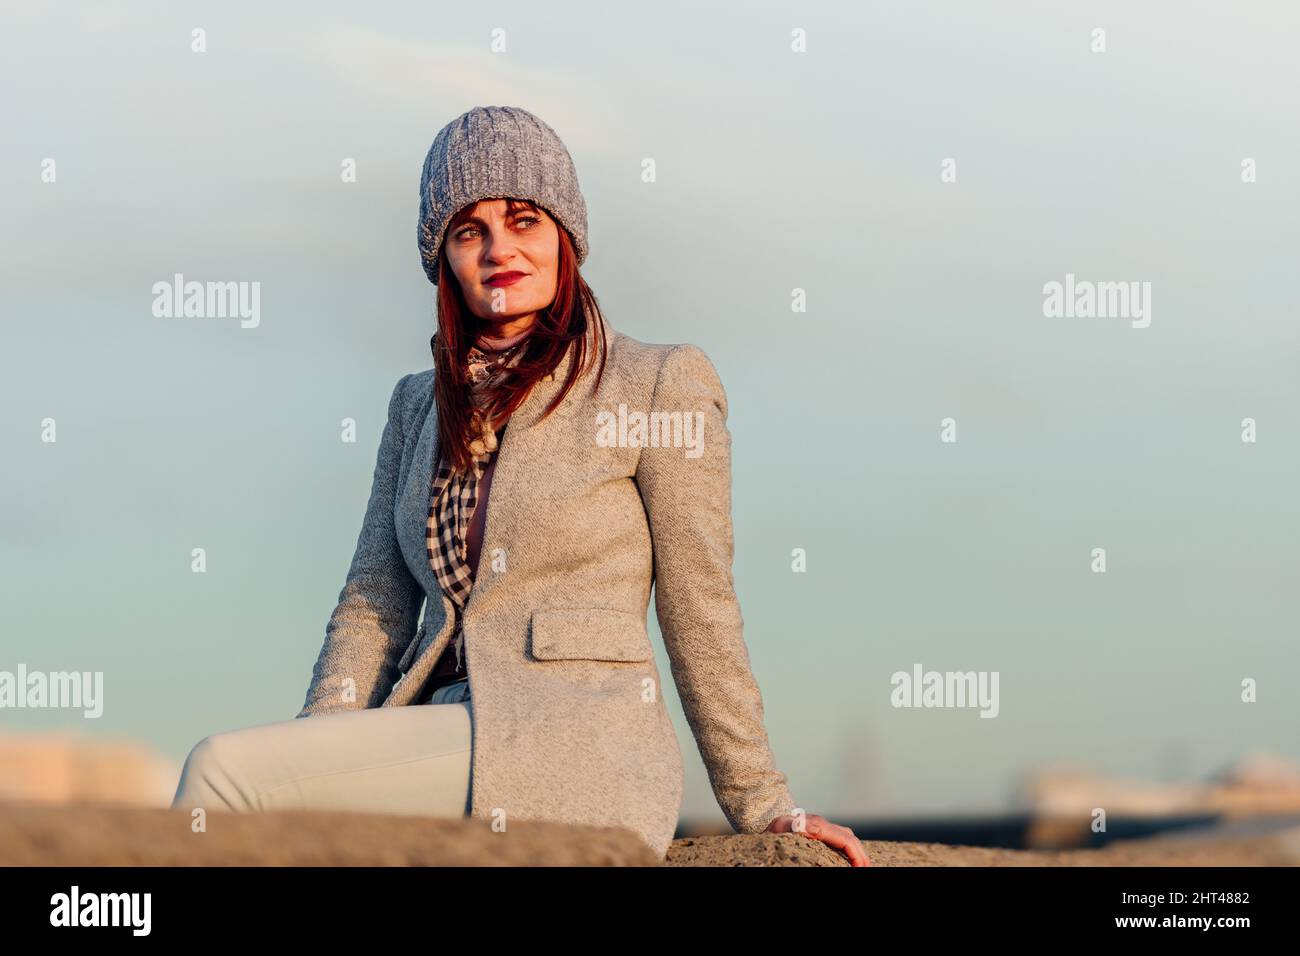
POLYGON ((545 209, 484 199, 447 228, 445 250, 469 311, 489 336, 514 336, 555 299, 560 237, 545 209))

